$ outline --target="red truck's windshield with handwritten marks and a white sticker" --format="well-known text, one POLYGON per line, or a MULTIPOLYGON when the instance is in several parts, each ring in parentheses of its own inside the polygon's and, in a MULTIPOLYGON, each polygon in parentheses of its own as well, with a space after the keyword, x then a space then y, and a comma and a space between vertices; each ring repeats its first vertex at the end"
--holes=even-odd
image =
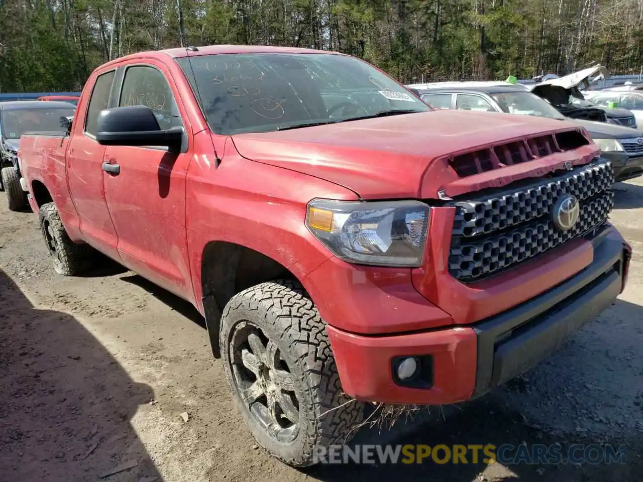
POLYGON ((345 55, 217 54, 177 62, 217 134, 431 110, 392 78, 345 55))

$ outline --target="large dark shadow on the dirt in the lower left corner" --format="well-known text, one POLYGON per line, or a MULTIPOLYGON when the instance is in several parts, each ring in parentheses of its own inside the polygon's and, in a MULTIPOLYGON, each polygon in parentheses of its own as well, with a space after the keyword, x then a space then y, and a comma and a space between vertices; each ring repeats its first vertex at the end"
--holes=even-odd
POLYGON ((129 423, 154 394, 75 318, 0 270, 0 472, 12 482, 161 481, 129 423), (127 469, 129 467, 129 469, 127 469))

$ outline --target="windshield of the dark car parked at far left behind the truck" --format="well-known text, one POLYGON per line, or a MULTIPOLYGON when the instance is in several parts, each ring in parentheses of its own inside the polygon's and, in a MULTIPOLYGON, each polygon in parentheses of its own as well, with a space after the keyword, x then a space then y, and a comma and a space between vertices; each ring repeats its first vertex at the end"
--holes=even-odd
POLYGON ((1 112, 0 126, 5 139, 19 139, 26 132, 67 132, 66 117, 75 109, 10 109, 1 112))

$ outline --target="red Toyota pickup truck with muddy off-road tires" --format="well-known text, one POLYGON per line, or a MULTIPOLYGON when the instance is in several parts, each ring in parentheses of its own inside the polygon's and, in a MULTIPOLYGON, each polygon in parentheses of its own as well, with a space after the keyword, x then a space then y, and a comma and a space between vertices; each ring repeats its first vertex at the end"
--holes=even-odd
POLYGON ((358 58, 208 46, 98 67, 19 159, 56 271, 97 250, 194 303, 257 440, 303 466, 365 402, 478 397, 613 303, 631 248, 599 154, 358 58))

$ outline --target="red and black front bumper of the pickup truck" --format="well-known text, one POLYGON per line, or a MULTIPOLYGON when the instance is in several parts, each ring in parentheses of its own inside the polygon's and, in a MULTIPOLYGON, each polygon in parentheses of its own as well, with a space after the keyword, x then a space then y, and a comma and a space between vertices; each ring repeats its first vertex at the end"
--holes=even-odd
POLYGON ((442 405, 482 395, 533 368, 622 292, 631 248, 608 226, 592 240, 593 261, 547 292, 471 325, 399 335, 327 332, 343 391, 371 402, 442 405), (394 360, 430 358, 430 384, 404 386, 394 360))

